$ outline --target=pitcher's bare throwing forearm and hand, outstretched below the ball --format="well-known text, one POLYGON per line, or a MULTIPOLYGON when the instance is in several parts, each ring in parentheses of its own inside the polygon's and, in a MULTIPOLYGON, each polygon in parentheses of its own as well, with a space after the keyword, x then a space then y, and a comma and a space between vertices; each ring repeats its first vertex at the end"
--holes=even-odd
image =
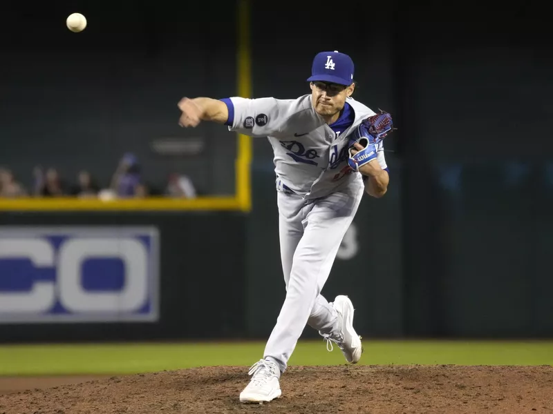
POLYGON ((225 124, 229 117, 227 106, 218 99, 206 97, 190 99, 185 97, 178 102, 178 108, 182 112, 178 124, 185 128, 198 126, 201 121, 225 124))

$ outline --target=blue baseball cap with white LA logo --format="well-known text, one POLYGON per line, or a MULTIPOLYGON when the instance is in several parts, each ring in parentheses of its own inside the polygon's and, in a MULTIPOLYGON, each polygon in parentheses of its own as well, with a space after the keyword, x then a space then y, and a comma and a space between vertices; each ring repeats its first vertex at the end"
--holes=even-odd
POLYGON ((338 83, 349 86, 353 82, 353 60, 348 55, 334 52, 320 52, 315 55, 311 77, 307 80, 338 83))

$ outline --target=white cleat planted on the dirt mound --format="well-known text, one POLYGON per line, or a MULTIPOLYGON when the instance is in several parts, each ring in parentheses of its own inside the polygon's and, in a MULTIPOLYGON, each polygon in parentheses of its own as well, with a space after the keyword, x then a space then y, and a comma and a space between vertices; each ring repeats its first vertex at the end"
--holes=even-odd
POLYGON ((260 359, 250 368, 250 384, 240 393, 240 402, 270 402, 281 396, 279 366, 269 359, 260 359))

